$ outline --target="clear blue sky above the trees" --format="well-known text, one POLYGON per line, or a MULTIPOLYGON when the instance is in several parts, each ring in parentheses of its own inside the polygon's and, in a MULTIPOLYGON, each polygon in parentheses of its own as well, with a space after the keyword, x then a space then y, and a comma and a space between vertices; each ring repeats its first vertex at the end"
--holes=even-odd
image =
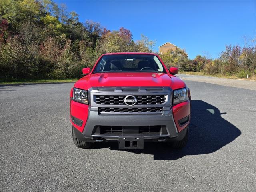
POLYGON ((165 42, 184 48, 189 58, 218 57, 226 44, 244 44, 243 36, 256 37, 256 0, 153 1, 56 0, 79 14, 80 22, 93 20, 109 30, 129 29, 133 39, 144 34, 156 40, 154 51, 165 42))

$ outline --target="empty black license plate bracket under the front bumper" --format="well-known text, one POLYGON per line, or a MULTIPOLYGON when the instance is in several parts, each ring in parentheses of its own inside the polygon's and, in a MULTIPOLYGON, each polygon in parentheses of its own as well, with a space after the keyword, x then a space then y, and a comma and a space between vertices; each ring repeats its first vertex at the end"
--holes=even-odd
POLYGON ((143 149, 143 137, 119 137, 119 149, 143 149))

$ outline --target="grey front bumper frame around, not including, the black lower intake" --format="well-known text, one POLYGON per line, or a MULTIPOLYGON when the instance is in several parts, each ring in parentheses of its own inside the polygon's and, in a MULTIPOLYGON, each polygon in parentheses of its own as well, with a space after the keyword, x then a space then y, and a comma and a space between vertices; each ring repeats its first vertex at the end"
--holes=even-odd
MULTIPOLYGON (((167 133, 164 135, 136 135, 136 134, 122 134, 120 136, 143 136, 144 141, 168 141, 168 140, 182 140, 184 138, 184 133, 188 129, 188 123, 178 132, 176 124, 174 122, 174 117, 172 114, 172 109, 164 111, 162 115, 100 115, 96 111, 88 110, 88 118, 86 125, 82 132, 77 128, 74 128, 74 133, 76 137, 82 141, 95 142, 98 138, 103 139, 105 142, 110 140, 118 140, 119 136, 115 135, 101 135, 94 134, 94 130, 97 126, 164 126, 167 133)), ((72 122, 74 124, 74 122, 72 122)))

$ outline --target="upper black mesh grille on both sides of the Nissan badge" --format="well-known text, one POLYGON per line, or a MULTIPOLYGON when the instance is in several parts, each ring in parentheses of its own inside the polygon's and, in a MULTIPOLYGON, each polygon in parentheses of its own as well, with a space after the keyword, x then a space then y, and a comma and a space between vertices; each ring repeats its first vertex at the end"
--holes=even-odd
MULTIPOLYGON (((96 95, 98 105, 125 105, 126 95, 96 95)), ((165 102, 164 95, 136 95, 136 105, 156 105, 165 102)))

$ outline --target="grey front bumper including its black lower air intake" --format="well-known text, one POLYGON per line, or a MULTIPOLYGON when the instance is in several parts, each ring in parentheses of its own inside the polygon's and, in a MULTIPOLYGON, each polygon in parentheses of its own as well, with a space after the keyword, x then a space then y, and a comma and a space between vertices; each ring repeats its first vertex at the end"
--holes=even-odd
POLYGON ((86 142, 118 141, 120 137, 142 137, 144 142, 182 140, 188 127, 178 132, 172 109, 162 114, 99 114, 89 108, 83 132, 74 128, 79 140, 86 142))

